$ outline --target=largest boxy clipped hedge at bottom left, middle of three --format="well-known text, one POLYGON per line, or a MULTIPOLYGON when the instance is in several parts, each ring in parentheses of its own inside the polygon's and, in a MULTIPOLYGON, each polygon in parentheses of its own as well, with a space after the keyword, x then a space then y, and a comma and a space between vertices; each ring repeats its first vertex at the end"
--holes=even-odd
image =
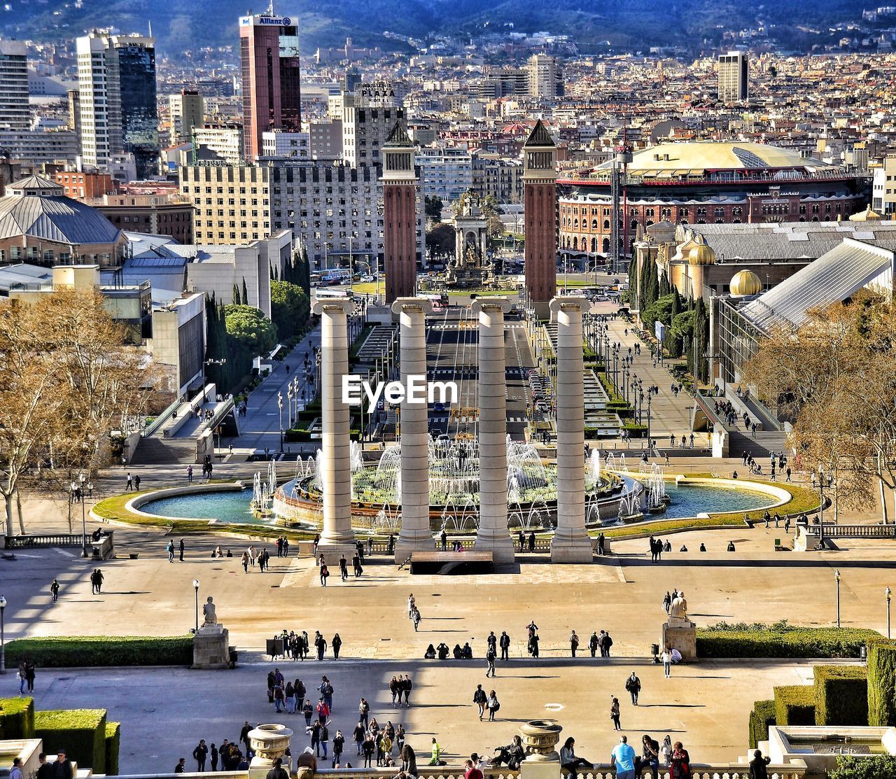
POLYGON ((106 709, 35 712, 34 736, 43 739, 47 755, 65 749, 67 757, 79 768, 92 768, 94 774, 106 773, 106 709))

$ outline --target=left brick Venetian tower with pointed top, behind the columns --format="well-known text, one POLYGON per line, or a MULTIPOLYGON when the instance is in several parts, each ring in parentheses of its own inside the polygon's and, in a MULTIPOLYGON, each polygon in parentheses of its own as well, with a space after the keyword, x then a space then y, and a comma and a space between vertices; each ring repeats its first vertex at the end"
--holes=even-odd
POLYGON ((401 121, 383 143, 383 253, 386 305, 417 290, 417 185, 414 143, 401 121))

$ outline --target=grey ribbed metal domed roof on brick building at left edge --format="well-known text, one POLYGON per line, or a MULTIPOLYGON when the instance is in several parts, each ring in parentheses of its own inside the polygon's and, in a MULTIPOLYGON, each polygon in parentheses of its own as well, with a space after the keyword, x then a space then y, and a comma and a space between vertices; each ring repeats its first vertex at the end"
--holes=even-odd
POLYGON ((61 196, 58 184, 30 176, 0 198, 0 241, 29 235, 57 244, 115 244, 121 231, 86 203, 61 196))

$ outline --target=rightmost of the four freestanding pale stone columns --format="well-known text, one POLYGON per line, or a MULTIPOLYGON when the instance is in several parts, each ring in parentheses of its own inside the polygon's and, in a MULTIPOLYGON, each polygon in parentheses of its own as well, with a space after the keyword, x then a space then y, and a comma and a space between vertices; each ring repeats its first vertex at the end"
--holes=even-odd
POLYGON ((582 355, 584 297, 555 297, 550 304, 557 323, 557 529, 551 562, 590 562, 591 539, 585 530, 585 387, 582 355))

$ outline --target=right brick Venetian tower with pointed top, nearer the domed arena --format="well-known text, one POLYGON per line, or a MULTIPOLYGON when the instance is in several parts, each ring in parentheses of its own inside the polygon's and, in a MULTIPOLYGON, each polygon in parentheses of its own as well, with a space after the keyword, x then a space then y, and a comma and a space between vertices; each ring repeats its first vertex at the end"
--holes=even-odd
POLYGON ((522 145, 526 225, 526 293, 538 319, 549 319, 556 295, 556 146, 538 120, 522 145))

